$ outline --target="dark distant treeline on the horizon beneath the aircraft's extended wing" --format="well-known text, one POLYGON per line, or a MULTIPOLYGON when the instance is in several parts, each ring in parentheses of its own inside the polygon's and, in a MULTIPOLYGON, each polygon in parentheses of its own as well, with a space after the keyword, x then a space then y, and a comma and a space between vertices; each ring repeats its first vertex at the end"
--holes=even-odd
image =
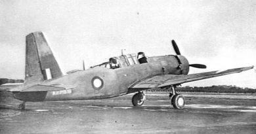
MULTIPOLYGON (((171 92, 171 90, 150 90, 151 92, 171 92)), ((177 92, 200 92, 200 93, 256 93, 256 89, 253 88, 240 88, 237 86, 207 86, 207 87, 177 87, 177 92)))

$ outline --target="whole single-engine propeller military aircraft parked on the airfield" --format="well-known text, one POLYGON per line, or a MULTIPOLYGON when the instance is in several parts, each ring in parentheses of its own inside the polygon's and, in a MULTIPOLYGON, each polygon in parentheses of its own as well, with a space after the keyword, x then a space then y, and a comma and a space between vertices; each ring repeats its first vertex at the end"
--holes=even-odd
POLYGON ((175 91, 179 84, 253 69, 251 66, 188 75, 190 67, 206 66, 189 64, 175 41, 172 44, 177 55, 145 58, 140 52, 140 57, 144 59, 139 60, 137 54, 122 54, 85 71, 62 75, 43 33, 30 33, 26 36, 25 82, 9 91, 14 98, 23 101, 19 109, 25 109, 26 101, 106 99, 135 92, 132 103, 140 107, 146 98, 143 90, 166 88, 171 90, 171 105, 175 109, 182 109, 184 97, 175 91), (112 68, 112 63, 118 65, 112 68))

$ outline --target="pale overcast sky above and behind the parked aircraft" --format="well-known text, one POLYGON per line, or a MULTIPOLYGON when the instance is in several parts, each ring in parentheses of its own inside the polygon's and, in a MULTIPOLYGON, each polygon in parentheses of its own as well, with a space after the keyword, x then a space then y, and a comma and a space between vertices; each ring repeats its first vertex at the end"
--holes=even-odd
MULTIPOLYGON (((42 31, 63 73, 97 65, 112 56, 145 52, 175 54, 175 39, 190 63, 207 69, 256 65, 256 2, 0 0, 0 78, 22 78, 25 37, 42 31)), ((182 86, 256 88, 255 69, 182 86)))

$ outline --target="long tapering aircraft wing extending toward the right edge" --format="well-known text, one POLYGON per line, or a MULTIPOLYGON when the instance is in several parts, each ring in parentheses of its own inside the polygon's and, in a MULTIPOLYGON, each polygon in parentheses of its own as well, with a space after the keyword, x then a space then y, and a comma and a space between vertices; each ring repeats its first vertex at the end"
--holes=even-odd
POLYGON ((229 75, 232 73, 240 73, 242 71, 247 71, 253 69, 251 67, 241 67, 236 69, 228 69, 224 71, 211 71, 206 73, 196 73, 191 75, 157 75, 150 78, 144 78, 139 82, 129 87, 129 90, 146 90, 150 88, 163 88, 165 86, 171 86, 175 84, 182 84, 186 82, 192 82, 196 80, 203 80, 205 78, 213 78, 215 76, 229 75))

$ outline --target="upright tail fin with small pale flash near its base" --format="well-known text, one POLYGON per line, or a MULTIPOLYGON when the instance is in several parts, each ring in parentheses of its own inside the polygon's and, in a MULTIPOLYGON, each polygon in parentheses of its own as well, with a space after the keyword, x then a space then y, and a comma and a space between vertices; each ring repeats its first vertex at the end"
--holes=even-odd
POLYGON ((53 56, 41 31, 26 36, 26 82, 40 82, 62 76, 60 67, 53 56))

